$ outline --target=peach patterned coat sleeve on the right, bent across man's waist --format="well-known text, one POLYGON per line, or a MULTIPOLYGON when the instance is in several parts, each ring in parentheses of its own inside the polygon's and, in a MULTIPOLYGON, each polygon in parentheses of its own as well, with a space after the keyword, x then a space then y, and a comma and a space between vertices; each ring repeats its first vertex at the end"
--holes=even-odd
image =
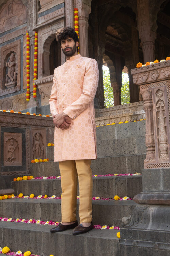
POLYGON ((66 115, 75 119, 94 100, 99 80, 99 70, 95 59, 91 59, 87 65, 84 75, 82 94, 63 111, 66 115))

